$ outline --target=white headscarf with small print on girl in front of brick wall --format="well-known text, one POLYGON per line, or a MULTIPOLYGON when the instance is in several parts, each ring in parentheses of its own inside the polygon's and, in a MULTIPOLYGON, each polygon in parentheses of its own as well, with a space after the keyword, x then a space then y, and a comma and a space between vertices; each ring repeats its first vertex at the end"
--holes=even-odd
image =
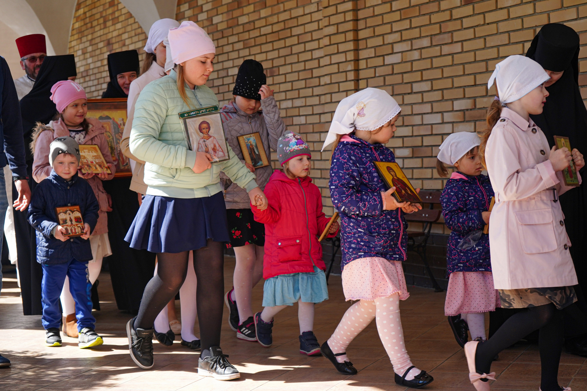
POLYGON ((355 129, 378 129, 400 111, 402 108, 396 100, 377 88, 369 87, 347 96, 336 106, 322 150, 336 140, 336 134, 349 134, 355 129))

